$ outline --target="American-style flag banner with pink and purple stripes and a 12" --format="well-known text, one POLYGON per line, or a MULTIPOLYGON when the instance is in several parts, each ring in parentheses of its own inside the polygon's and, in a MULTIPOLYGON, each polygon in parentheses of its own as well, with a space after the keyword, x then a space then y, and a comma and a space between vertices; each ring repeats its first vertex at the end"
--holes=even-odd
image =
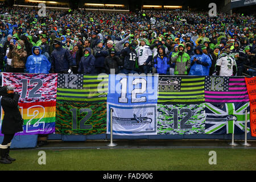
POLYGON ((205 77, 205 102, 249 102, 244 77, 205 77))

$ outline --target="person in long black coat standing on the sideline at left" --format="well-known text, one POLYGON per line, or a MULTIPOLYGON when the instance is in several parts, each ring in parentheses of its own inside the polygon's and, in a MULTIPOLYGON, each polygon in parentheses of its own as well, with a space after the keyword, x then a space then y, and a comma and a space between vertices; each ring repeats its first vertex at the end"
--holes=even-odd
POLYGON ((20 96, 14 92, 14 89, 15 87, 11 85, 0 88, 1 105, 5 112, 1 128, 3 142, 0 144, 0 163, 3 164, 10 164, 15 161, 9 156, 11 140, 15 133, 23 131, 23 119, 18 105, 20 96))

